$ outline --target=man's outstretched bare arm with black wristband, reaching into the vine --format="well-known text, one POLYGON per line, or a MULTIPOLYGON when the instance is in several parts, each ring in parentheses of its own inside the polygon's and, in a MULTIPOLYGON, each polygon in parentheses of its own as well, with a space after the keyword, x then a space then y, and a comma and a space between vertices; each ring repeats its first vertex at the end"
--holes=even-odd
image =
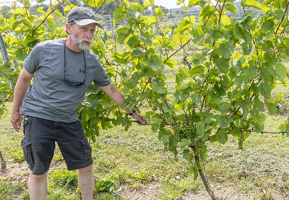
MULTIPOLYGON (((122 102, 125 100, 125 97, 121 95, 121 91, 119 91, 114 85, 110 83, 108 86, 101 87, 103 91, 110 96, 110 98, 116 102, 121 107, 122 102)), ((126 112, 131 113, 133 110, 125 109, 126 112)), ((135 112, 131 115, 132 118, 140 121, 142 124, 145 124, 144 116, 138 112, 135 112)))

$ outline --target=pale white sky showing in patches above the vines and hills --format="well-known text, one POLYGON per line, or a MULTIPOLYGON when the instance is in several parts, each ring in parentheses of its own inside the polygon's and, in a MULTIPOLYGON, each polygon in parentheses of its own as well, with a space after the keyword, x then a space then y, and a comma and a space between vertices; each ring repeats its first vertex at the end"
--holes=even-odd
MULTIPOLYGON (((0 6, 2 5, 11 5, 11 2, 13 0, 0 0, 0 6), (8 2, 8 3, 7 3, 8 2)), ((15 0, 16 1, 16 0, 15 0)), ((32 5, 37 4, 36 0, 29 0, 32 5)), ((162 5, 168 9, 170 8, 181 8, 183 3, 181 5, 177 5, 177 0, 154 0, 155 5, 162 5)), ((185 0, 185 4, 188 5, 189 0, 185 0)), ((211 1, 212 3, 215 3, 215 1, 211 1)), ((49 0, 44 1, 43 3, 49 4, 49 0)), ((19 2, 17 2, 17 5, 20 5, 19 2)))

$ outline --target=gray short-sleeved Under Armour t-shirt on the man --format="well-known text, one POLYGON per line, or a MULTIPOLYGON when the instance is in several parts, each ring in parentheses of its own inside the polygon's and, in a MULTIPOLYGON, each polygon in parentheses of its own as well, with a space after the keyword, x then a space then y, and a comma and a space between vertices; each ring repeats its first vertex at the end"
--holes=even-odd
POLYGON ((25 69, 35 76, 21 105, 21 113, 57 122, 76 121, 77 108, 88 86, 92 82, 97 87, 110 85, 95 54, 90 50, 74 52, 67 46, 66 81, 73 84, 84 81, 84 56, 86 81, 81 87, 72 87, 64 82, 64 38, 37 44, 23 63, 25 69))

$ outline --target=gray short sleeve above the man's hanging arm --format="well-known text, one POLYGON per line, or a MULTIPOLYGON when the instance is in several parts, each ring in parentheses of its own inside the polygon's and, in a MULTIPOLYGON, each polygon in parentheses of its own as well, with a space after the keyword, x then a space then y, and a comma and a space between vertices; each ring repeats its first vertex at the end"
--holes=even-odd
POLYGON ((40 44, 35 45, 23 62, 23 66, 29 74, 34 74, 36 69, 40 66, 41 49, 40 44))

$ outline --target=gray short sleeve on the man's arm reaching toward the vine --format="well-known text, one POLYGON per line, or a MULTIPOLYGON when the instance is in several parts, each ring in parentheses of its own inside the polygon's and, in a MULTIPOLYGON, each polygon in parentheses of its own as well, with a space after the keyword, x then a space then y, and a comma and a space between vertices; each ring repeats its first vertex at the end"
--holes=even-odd
POLYGON ((96 87, 103 87, 110 85, 110 79, 106 76, 104 68, 100 64, 98 58, 95 54, 92 55, 92 72, 93 72, 93 82, 96 87))

